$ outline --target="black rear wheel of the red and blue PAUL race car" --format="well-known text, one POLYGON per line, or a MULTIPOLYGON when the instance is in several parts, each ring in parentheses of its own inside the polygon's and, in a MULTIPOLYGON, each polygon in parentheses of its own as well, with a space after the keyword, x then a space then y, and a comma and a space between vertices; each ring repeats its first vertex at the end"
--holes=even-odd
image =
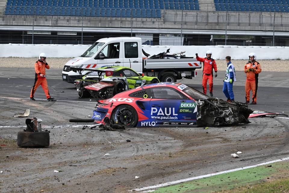
POLYGON ((115 124, 135 127, 138 123, 138 114, 132 106, 120 105, 115 109, 112 119, 115 124))

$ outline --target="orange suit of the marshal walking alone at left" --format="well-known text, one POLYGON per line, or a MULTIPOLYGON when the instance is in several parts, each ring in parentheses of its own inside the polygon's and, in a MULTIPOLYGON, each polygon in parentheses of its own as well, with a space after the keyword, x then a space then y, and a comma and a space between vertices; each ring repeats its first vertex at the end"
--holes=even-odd
POLYGON ((35 62, 34 68, 35 68, 35 82, 34 82, 34 85, 31 89, 30 97, 34 97, 34 93, 35 93, 37 87, 39 87, 39 85, 41 85, 42 89, 45 92, 46 98, 49 99, 50 94, 49 94, 48 84, 47 84, 46 78, 41 77, 40 74, 45 75, 45 68, 49 69, 50 67, 47 63, 45 64, 41 60, 38 60, 35 62))

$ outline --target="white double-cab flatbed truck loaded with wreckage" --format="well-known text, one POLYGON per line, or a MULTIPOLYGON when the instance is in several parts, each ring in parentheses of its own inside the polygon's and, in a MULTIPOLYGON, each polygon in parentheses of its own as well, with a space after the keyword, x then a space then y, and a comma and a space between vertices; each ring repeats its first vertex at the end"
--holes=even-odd
MULTIPOLYGON (((62 80, 73 83, 81 78, 75 68, 101 68, 104 66, 126 66, 139 74, 158 77, 162 82, 176 82, 182 78, 195 77, 196 68, 202 65, 195 58, 148 59, 143 58, 141 38, 102 38, 89 47, 81 56, 68 61, 62 71, 62 80)), ((82 72, 85 74, 85 72, 82 72)))

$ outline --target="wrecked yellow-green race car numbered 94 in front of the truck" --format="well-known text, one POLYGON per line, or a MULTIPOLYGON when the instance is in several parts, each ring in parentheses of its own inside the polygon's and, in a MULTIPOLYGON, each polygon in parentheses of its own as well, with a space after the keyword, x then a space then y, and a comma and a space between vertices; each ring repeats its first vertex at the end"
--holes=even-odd
POLYGON ((125 90, 160 82, 156 77, 143 76, 128 67, 106 66, 98 69, 71 68, 73 71, 89 70, 82 79, 75 80, 79 98, 93 96, 107 99, 125 90))

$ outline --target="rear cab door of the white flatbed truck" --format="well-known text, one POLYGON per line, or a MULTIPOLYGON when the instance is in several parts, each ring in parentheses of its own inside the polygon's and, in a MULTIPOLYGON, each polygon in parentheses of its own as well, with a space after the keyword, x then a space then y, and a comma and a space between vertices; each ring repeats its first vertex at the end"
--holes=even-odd
POLYGON ((123 66, 132 68, 137 73, 141 73, 141 60, 142 55, 140 55, 138 42, 123 42, 124 52, 123 52, 123 66))

